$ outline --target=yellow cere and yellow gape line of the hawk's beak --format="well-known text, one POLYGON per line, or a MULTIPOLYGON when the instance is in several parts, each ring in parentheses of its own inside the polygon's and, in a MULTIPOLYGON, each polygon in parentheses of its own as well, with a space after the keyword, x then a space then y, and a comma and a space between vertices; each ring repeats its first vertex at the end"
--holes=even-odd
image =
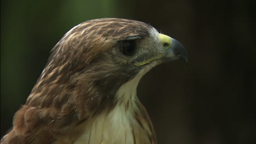
MULTIPOLYGON (((168 35, 159 33, 158 37, 159 37, 160 43, 162 45, 168 44, 170 46, 172 44, 172 38, 169 37, 168 35)), ((168 47, 164 47, 164 48, 168 49, 168 47)), ((164 56, 164 54, 158 55, 158 56, 155 56, 155 57, 152 57, 152 58, 149 58, 149 59, 147 59, 146 61, 143 61, 143 62, 135 63, 135 65, 141 66, 141 65, 147 64, 147 63, 149 63, 151 61, 154 61, 155 59, 159 59, 162 56, 164 56)))

